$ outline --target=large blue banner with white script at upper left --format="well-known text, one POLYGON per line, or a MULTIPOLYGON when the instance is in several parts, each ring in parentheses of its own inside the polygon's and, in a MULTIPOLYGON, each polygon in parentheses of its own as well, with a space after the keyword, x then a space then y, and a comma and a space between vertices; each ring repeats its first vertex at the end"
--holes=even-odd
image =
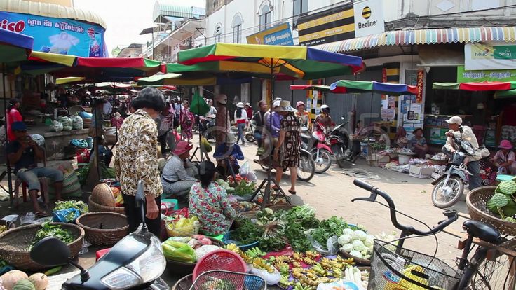
POLYGON ((106 29, 93 23, 0 11, 0 28, 34 37, 34 51, 108 57, 104 43, 106 29))

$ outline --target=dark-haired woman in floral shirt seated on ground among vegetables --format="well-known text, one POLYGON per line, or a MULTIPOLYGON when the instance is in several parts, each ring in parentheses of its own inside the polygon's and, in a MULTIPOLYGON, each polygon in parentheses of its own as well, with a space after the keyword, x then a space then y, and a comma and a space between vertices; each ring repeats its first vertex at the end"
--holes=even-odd
POLYGON ((189 214, 197 216, 201 222, 201 233, 221 235, 227 233, 236 217, 236 212, 229 204, 226 190, 215 180, 215 165, 205 161, 199 166, 199 177, 190 190, 189 214))

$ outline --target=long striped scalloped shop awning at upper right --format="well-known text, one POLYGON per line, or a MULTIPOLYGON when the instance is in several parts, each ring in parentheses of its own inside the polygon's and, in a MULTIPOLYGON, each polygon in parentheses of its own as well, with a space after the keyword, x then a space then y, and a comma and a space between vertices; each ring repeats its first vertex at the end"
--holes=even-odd
POLYGON ((461 27, 443 29, 394 30, 381 34, 346 39, 313 46, 332 53, 379 46, 402 46, 411 44, 475 43, 480 41, 516 41, 516 27, 461 27))

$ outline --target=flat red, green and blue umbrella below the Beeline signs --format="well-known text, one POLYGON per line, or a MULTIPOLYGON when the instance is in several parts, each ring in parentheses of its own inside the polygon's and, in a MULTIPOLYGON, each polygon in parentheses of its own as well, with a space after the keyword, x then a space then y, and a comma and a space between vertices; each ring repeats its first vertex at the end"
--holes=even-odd
POLYGON ((414 85, 400 83, 379 83, 376 81, 341 80, 331 85, 290 85, 290 90, 318 90, 332 93, 377 92, 385 95, 415 95, 414 85))

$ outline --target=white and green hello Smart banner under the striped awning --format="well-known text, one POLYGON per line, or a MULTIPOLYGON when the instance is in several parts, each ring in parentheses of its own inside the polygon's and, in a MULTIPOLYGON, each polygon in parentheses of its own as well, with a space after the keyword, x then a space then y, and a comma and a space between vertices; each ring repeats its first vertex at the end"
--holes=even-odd
POLYGON ((516 69, 516 45, 507 42, 466 43, 464 67, 482 69, 516 69))

